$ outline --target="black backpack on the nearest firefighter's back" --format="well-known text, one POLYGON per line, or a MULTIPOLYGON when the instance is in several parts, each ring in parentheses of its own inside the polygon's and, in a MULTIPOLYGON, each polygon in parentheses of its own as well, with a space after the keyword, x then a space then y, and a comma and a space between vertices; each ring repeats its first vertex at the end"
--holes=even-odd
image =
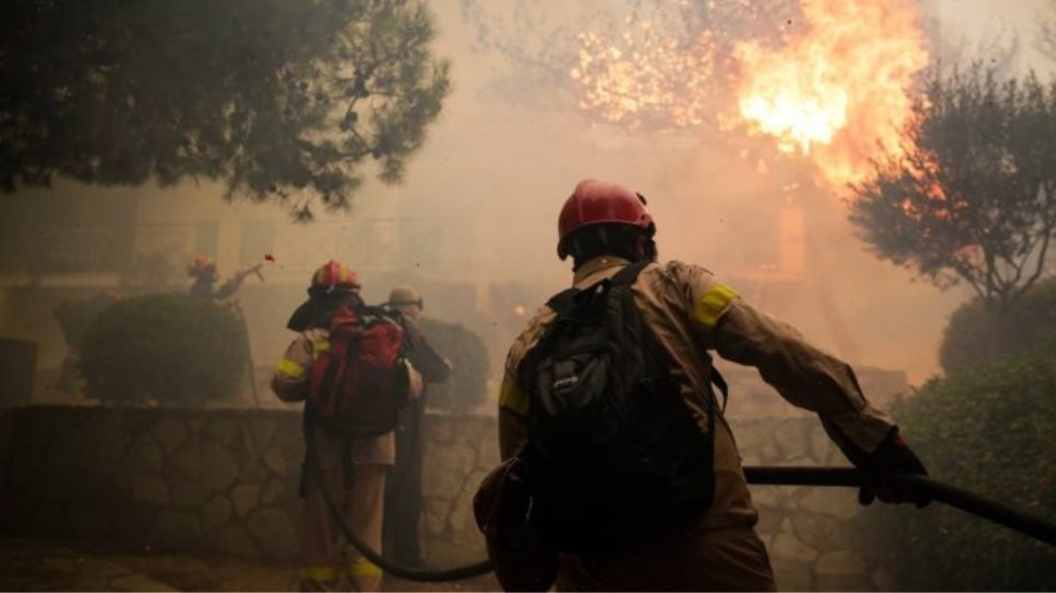
POLYGON ((634 303, 631 285, 647 263, 552 298, 556 319, 527 361, 520 472, 527 518, 558 551, 648 544, 712 502, 712 397, 705 431, 634 303))

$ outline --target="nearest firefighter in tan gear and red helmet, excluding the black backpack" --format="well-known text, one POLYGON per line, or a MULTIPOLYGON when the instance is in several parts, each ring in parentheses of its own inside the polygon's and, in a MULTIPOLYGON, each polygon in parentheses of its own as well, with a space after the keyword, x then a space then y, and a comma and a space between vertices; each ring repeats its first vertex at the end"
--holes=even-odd
MULTIPOLYGON (((640 547, 540 554, 540 570, 550 571, 547 579, 556 577, 557 590, 775 589, 767 549, 754 533, 758 513, 733 431, 711 387, 708 352, 754 366, 791 403, 816 412, 848 457, 875 476, 871 487, 860 492, 863 503, 874 495, 890 503, 928 502, 885 481, 886 470, 926 471, 892 418, 868 402, 851 367, 810 345, 790 326, 754 309, 705 269, 678 261, 656 263, 656 225, 639 194, 617 184, 584 180, 566 201, 558 231, 557 253, 561 260, 572 258, 576 288, 612 278, 629 263, 649 262, 632 284, 633 300, 662 351, 668 376, 678 383, 675 392, 681 394, 692 419, 702 431, 708 430, 709 415, 714 421, 714 490, 706 511, 640 547)), ((534 372, 531 354, 554 317, 553 309, 543 307, 510 349, 499 397, 504 465, 527 438, 533 414, 526 380, 534 372)), ((485 490, 495 486, 489 481, 478 498, 488 495, 485 490)), ((613 522, 620 520, 612 517, 613 522)), ((500 580, 506 563, 511 571, 523 571, 523 558, 497 557, 510 547, 503 548, 503 541, 492 544, 489 540, 489 551, 500 580)), ((524 549, 536 550, 521 546, 516 555, 523 556, 524 549)))

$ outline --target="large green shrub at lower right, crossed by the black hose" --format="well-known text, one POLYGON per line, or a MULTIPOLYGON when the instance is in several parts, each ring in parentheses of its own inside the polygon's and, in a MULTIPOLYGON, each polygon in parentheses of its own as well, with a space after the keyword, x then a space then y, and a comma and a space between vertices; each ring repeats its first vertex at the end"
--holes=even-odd
MULTIPOLYGON (((932 477, 1056 521, 1056 365, 1034 355, 955 373, 894 407, 932 477)), ((934 503, 871 509, 863 551, 898 590, 1056 590, 1056 548, 934 503)))

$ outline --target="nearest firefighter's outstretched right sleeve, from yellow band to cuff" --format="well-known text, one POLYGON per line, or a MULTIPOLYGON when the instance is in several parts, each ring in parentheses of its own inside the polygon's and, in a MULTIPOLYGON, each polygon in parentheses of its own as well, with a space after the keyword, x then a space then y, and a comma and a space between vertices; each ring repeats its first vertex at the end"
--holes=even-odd
POLYGON ((850 365, 813 346, 787 323, 756 310, 709 273, 696 278, 690 293, 693 323, 706 347, 754 366, 782 397, 816 412, 841 447, 853 444, 872 452, 892 432, 890 417, 868 402, 850 365))

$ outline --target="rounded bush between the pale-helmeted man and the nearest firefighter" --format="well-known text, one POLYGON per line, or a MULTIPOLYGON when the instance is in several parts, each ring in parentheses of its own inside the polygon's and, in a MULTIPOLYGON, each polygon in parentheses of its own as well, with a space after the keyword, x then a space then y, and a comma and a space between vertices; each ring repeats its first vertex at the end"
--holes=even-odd
POLYGON ((488 347, 479 335, 459 323, 423 318, 425 340, 454 370, 446 383, 429 386, 429 406, 463 412, 484 402, 487 397, 488 347))

